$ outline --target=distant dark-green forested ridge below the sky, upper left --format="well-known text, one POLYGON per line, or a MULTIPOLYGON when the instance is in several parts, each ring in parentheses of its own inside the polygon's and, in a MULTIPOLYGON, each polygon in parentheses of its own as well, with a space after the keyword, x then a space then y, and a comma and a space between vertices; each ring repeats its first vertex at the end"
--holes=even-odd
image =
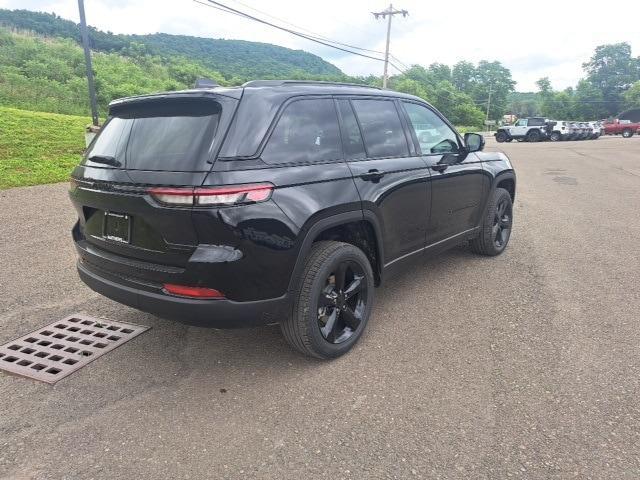
MULTIPOLYGON (((0 25, 80 43, 77 24, 49 13, 0 9, 0 25)), ((310 75, 335 77, 342 74, 337 67, 317 55, 267 43, 166 33, 116 35, 93 27, 89 27, 89 38, 94 51, 131 57, 145 54, 165 59, 180 56, 206 69, 220 72, 228 81, 310 75)))

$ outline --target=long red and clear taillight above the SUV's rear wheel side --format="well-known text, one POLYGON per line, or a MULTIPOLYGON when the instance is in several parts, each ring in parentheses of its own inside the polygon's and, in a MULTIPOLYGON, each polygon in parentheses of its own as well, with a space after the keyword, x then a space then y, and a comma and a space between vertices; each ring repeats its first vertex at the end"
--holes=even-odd
POLYGON ((149 194, 158 202, 178 206, 225 206, 264 202, 271 198, 271 183, 254 183, 226 187, 151 188, 149 194))

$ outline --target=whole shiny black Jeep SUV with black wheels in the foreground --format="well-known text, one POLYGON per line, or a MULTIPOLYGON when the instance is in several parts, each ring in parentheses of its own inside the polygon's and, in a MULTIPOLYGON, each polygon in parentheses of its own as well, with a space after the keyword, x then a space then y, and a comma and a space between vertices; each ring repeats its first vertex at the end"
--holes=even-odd
POLYGON ((375 287, 470 241, 497 255, 516 179, 423 100, 359 85, 253 81, 116 100, 73 171, 78 272, 184 323, 280 323, 337 357, 375 287))

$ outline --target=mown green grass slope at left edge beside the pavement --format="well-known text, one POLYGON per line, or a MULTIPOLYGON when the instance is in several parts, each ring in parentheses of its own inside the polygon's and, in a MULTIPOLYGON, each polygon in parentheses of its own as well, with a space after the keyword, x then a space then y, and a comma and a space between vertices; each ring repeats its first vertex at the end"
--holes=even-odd
POLYGON ((0 189, 65 181, 89 117, 0 107, 0 189))

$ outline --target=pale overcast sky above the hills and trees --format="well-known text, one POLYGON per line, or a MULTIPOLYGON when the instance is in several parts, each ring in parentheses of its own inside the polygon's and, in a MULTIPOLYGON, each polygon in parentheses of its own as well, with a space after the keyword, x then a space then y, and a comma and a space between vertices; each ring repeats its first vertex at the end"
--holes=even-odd
MULTIPOLYGON (((384 1, 221 1, 268 19, 248 7, 258 9, 343 43, 384 50, 386 24, 371 15, 388 5, 384 1)), ((396 7, 410 13, 393 21, 391 52, 402 62, 452 65, 459 60, 499 60, 511 69, 519 91, 535 90, 534 82, 544 76, 556 89, 575 85, 583 76, 582 63, 597 45, 626 41, 633 54, 640 55, 636 0, 623 2, 624 8, 590 0, 397 1, 396 7)), ((0 0, 0 7, 55 12, 79 21, 75 0, 0 0)), ((85 8, 89 24, 115 33, 165 32, 269 42, 320 55, 348 74, 382 71, 381 62, 323 47, 193 0, 85 0, 85 8)))

